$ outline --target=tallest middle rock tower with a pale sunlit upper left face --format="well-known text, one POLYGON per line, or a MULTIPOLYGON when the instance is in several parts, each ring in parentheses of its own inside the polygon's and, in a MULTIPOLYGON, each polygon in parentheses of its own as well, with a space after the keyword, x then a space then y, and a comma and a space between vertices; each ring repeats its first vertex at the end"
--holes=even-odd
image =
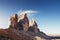
POLYGON ((19 27, 22 27, 21 29, 23 29, 24 31, 28 30, 29 20, 26 13, 19 16, 18 24, 19 24, 19 27))

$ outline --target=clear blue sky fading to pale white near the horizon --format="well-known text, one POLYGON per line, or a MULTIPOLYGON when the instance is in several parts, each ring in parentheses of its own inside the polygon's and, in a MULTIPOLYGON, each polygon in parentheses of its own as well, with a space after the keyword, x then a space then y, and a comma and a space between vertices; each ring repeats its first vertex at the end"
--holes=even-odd
POLYGON ((60 35, 60 0, 0 0, 0 27, 7 28, 9 16, 20 10, 37 11, 28 16, 35 19, 40 31, 60 35))

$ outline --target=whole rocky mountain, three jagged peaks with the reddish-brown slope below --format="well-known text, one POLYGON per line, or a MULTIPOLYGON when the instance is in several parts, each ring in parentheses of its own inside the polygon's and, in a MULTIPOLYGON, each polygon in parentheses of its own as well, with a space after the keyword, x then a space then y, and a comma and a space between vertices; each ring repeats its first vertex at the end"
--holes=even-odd
POLYGON ((41 32, 34 19, 28 20, 27 14, 10 16, 9 28, 0 29, 0 40, 51 40, 41 32))

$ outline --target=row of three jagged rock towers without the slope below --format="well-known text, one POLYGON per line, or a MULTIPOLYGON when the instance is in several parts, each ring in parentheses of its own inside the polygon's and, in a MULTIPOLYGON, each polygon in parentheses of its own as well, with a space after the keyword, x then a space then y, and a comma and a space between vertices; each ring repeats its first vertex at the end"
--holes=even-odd
POLYGON ((27 14, 24 13, 18 17, 17 14, 14 14, 10 16, 9 20, 10 28, 18 29, 18 30, 24 30, 24 31, 32 31, 37 33, 38 27, 34 19, 28 20, 27 14))

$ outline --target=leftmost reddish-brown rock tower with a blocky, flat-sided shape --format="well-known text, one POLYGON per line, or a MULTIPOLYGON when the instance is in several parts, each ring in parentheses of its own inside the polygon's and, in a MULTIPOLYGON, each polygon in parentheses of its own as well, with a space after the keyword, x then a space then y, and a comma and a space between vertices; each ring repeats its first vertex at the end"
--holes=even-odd
POLYGON ((17 14, 10 16, 9 28, 15 28, 15 29, 18 28, 18 15, 17 14))

